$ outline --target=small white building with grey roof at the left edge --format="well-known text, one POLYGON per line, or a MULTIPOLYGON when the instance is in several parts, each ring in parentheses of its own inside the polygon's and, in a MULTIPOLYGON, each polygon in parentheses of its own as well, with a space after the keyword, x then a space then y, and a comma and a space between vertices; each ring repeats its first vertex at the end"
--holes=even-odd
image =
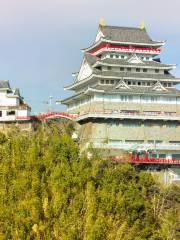
POLYGON ((30 120, 31 108, 20 95, 19 89, 12 89, 9 81, 0 80, 0 122, 30 120))

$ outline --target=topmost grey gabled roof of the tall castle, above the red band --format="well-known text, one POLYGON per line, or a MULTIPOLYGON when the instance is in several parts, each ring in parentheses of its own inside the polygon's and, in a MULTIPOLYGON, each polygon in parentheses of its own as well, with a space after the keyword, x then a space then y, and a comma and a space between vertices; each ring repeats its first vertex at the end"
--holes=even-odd
POLYGON ((106 40, 124 42, 124 43, 144 43, 160 44, 163 42, 153 41, 147 34, 146 29, 134 27, 100 26, 99 30, 103 33, 106 40))

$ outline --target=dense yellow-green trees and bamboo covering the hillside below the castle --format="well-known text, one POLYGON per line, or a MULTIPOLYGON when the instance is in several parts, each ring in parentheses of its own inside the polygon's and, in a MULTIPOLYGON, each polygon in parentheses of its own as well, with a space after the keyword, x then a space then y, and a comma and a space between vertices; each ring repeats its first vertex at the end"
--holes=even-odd
POLYGON ((0 239, 180 239, 177 186, 80 157, 57 126, 0 138, 0 239))

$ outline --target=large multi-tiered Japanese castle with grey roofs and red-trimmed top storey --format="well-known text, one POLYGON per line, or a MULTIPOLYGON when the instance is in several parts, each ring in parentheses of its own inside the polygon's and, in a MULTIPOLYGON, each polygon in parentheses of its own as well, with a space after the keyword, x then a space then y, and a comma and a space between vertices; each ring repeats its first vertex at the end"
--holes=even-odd
POLYGON ((154 149, 180 159, 180 79, 161 63, 164 41, 139 28, 99 24, 62 101, 81 125, 80 142, 99 149, 154 149))

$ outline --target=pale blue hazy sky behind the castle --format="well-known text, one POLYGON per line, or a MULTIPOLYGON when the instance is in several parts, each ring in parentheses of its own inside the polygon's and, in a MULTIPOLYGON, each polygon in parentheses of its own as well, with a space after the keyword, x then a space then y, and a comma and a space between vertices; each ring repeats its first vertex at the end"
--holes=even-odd
MULTIPOLYGON (((0 0, 0 79, 19 87, 34 112, 71 94, 63 86, 73 81, 82 52, 94 40, 98 21, 138 26, 155 40, 166 40, 162 61, 176 63, 180 76, 179 0, 0 0)), ((54 105, 56 110, 64 110, 54 105)))

